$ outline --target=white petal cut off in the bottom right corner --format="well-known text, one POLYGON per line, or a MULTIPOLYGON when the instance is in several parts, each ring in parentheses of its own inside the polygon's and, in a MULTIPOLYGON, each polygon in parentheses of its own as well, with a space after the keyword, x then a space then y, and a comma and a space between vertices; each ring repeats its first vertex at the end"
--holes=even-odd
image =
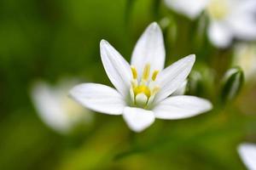
POLYGON ((238 152, 241 160, 248 169, 256 169, 256 145, 255 144, 240 144, 238 152))

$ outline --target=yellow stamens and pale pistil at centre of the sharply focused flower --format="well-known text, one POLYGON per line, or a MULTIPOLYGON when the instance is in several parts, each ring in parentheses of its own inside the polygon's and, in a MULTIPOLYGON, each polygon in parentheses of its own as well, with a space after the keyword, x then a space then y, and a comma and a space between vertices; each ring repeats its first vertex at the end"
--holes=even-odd
POLYGON ((155 94, 160 90, 155 84, 158 73, 159 71, 153 71, 150 75, 150 65, 147 64, 139 80, 137 77, 137 69, 131 65, 131 105, 147 109, 153 103, 155 94), (151 77, 149 78, 149 76, 151 77))

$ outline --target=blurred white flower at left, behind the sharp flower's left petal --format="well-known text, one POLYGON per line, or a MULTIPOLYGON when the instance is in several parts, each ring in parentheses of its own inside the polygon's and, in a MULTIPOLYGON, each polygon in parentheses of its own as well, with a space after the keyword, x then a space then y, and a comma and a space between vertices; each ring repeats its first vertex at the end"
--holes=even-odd
POLYGON ((65 80, 55 87, 36 82, 32 87, 32 102, 43 122, 58 133, 69 133, 79 124, 91 122, 92 114, 70 99, 69 88, 77 81, 65 80))

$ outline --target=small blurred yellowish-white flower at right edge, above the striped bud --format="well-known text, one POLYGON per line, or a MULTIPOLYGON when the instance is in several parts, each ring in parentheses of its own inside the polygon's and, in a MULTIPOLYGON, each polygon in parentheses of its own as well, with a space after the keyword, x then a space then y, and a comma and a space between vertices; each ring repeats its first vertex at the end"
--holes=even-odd
POLYGON ((256 44, 238 43, 234 49, 233 65, 241 66, 246 80, 255 79, 256 44))

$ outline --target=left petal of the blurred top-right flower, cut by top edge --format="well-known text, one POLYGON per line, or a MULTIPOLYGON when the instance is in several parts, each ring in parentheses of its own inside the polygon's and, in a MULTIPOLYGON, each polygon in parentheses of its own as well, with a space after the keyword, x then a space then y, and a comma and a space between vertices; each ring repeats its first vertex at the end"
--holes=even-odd
POLYGON ((166 5, 177 13, 185 14, 190 19, 195 19, 204 8, 209 0, 166 0, 166 5))

